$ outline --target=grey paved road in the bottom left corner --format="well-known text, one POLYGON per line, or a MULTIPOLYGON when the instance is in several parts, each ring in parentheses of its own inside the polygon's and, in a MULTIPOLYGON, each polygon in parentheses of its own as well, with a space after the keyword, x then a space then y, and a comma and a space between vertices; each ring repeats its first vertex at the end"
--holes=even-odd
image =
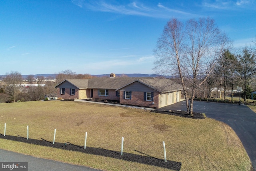
POLYGON ((0 149, 1 162, 28 162, 28 171, 100 171, 89 167, 41 159, 0 149))

